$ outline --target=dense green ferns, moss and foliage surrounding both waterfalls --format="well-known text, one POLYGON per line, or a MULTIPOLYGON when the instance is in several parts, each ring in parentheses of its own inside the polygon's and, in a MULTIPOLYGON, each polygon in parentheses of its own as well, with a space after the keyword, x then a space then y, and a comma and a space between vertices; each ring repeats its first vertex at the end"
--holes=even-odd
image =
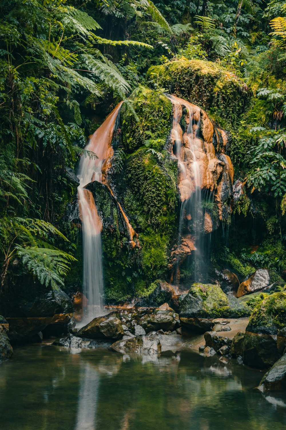
POLYGON ((76 200, 71 172, 120 100, 112 185, 141 248, 129 249, 114 202, 95 186, 106 217, 106 298, 144 296, 166 278, 179 211, 166 92, 226 129, 235 179, 245 184, 229 233, 213 234, 214 266, 241 278, 258 267, 286 270, 283 2, 3 0, 0 15, 2 286, 21 265, 63 287, 74 261, 64 288, 81 288, 79 223, 66 216, 76 200))

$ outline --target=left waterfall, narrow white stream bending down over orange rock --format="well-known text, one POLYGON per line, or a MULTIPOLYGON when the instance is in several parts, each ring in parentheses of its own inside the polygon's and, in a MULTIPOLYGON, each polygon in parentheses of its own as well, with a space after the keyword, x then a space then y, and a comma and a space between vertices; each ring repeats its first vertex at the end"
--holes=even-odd
POLYGON ((104 123, 96 130, 85 147, 97 158, 83 155, 78 166, 78 203, 83 233, 83 293, 88 299, 84 322, 99 316, 103 312, 103 270, 102 270, 102 224, 97 213, 92 193, 85 188, 93 181, 104 183, 104 174, 108 160, 113 154, 111 140, 114 124, 121 103, 108 115, 104 123))

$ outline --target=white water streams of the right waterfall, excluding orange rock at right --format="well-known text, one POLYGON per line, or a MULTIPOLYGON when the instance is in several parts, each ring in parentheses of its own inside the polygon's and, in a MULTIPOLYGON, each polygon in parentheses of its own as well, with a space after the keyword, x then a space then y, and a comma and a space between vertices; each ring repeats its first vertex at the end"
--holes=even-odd
MULTIPOLYGON (((193 251, 194 281, 203 281, 208 272, 208 254, 210 249, 209 237, 204 231, 205 210, 203 203, 207 204, 213 199, 213 194, 202 190, 202 172, 199 166, 199 157, 203 152, 203 141, 199 137, 200 111, 193 104, 171 96, 173 103, 172 136, 174 139, 173 153, 178 159, 179 183, 181 185, 181 212, 179 219, 178 245, 180 246, 184 235, 192 234, 195 245, 193 251), (184 132, 180 126, 182 118, 182 105, 186 107, 187 130, 184 132)), ((209 205, 211 206, 211 205, 209 205)), ((180 255, 177 260, 175 283, 179 282, 180 255)))

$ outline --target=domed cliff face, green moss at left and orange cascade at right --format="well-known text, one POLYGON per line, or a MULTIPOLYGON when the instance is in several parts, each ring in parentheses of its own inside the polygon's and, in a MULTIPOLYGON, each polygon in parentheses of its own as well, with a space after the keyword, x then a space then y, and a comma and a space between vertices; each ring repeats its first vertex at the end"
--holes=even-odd
POLYGON ((102 218, 108 300, 148 295, 156 279, 178 281, 176 267, 192 260, 202 233, 229 221, 234 172, 227 140, 201 107, 175 95, 141 87, 123 104, 105 185, 88 186, 102 218))

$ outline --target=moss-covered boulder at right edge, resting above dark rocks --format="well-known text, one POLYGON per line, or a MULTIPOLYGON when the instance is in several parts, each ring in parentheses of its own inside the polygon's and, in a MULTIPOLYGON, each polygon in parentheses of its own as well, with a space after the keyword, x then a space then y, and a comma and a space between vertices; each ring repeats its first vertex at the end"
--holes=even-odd
POLYGON ((286 292, 268 295, 254 307, 248 332, 277 335, 286 326, 286 292))

